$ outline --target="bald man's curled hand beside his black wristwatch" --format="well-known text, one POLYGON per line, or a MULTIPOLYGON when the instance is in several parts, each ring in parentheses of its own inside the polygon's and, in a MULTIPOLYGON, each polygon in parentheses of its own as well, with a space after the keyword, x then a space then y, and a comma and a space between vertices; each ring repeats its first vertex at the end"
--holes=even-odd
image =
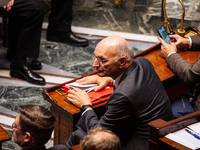
POLYGON ((69 90, 67 99, 79 108, 81 108, 83 105, 92 105, 88 94, 78 88, 69 90))

